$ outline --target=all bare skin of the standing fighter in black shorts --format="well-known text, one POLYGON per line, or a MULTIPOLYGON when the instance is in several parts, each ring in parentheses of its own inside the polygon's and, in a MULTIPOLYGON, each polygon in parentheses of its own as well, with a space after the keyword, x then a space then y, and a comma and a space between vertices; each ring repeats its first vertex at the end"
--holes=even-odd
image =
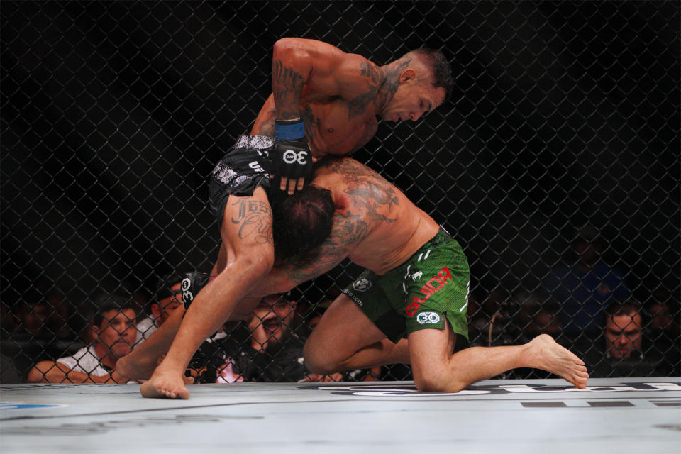
MULTIPOLYGON (((272 53, 272 95, 260 110, 252 134, 274 137, 275 119, 303 118, 314 158, 345 155, 373 137, 377 118, 416 121, 441 105, 446 89, 433 87, 431 72, 416 54, 379 67, 333 45, 282 38, 272 53)), ((301 189, 303 182, 281 179, 289 193, 294 187, 301 189)), ((170 350, 141 388, 144 397, 189 397, 182 374, 196 348, 235 313, 248 313, 257 304, 245 297, 272 268, 271 227, 264 189, 256 188, 253 196, 229 196, 221 226, 223 241, 211 272, 215 278, 196 295, 179 323, 170 350), (246 217, 241 216, 244 210, 246 217)), ((134 358, 127 362, 134 363, 134 358)))

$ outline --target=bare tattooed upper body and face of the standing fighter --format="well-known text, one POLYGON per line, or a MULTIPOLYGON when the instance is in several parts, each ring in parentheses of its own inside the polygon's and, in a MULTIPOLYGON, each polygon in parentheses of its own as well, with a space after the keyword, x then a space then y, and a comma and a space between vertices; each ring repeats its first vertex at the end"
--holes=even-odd
POLYGON ((275 119, 302 118, 314 157, 346 155, 376 133, 377 116, 416 121, 442 104, 421 62, 402 57, 382 67, 320 41, 284 38, 272 57, 274 92, 251 134, 275 136, 275 119), (295 89, 283 89, 295 84, 295 89))

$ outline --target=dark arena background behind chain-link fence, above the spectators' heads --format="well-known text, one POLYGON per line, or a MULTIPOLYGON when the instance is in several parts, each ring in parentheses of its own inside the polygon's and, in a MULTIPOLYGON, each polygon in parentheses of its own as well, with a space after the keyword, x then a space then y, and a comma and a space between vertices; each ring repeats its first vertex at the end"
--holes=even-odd
POLYGON ((572 260, 585 223, 636 299, 680 299, 677 2, 0 9, 6 306, 55 292, 74 306, 144 298, 172 269, 208 272, 219 236, 207 177, 270 94, 283 36, 380 65, 422 45, 445 52, 453 99, 418 123, 382 123, 354 157, 458 238, 479 299, 533 292, 572 260))

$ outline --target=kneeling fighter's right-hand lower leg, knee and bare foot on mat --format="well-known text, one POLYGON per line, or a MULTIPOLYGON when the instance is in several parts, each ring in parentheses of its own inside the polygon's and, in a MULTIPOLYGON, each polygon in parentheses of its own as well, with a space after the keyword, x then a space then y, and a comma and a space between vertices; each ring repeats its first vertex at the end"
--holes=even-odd
POLYGON ((452 355, 455 336, 449 326, 409 334, 411 367, 419 391, 458 392, 516 367, 546 370, 575 387, 586 387, 589 375, 584 362, 546 334, 525 345, 471 347, 452 355))

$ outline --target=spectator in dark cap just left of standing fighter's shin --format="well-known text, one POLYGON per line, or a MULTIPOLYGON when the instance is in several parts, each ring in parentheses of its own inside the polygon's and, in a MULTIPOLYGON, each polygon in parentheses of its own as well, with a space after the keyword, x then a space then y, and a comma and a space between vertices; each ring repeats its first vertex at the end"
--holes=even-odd
POLYGON ((151 315, 137 322, 135 347, 149 338, 175 309, 182 306, 182 290, 179 287, 183 277, 184 274, 172 272, 158 280, 154 300, 150 305, 151 315))

